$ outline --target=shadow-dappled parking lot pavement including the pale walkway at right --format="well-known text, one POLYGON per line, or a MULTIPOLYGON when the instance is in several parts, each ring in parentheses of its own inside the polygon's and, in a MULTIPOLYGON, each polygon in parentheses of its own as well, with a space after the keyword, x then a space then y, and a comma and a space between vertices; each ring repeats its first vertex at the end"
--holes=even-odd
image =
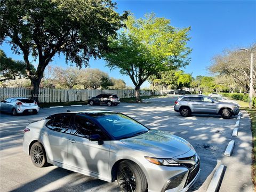
POLYGON ((251 181, 252 135, 245 111, 238 127, 238 137, 231 134, 236 117, 216 115, 181 117, 173 109, 177 97, 153 98, 150 103, 121 103, 116 107, 79 106, 41 108, 37 115, 1 114, 0 191, 119 191, 117 182, 108 183, 57 166, 35 167, 22 151, 23 129, 29 122, 45 116, 70 111, 114 110, 129 115, 151 129, 169 131, 189 141, 201 157, 201 174, 189 191, 206 191, 215 169, 227 166, 220 191, 253 191, 251 181), (231 157, 224 156, 230 140, 235 140, 231 157))

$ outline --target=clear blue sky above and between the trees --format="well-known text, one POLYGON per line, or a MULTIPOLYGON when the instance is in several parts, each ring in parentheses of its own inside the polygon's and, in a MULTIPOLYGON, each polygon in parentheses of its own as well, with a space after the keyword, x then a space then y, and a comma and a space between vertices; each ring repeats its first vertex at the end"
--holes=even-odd
MULTIPOLYGON (((154 12, 157 17, 171 20, 171 25, 179 28, 191 26, 188 46, 193 49, 191 63, 186 73, 210 75, 206 67, 211 58, 222 50, 234 47, 246 47, 256 42, 256 1, 116 1, 117 11, 131 11, 136 18, 145 13, 154 12)), ((3 44, 7 57, 22 60, 22 55, 14 55, 10 46, 3 44)), ((55 56, 52 66, 68 67, 63 55, 55 56)), ((133 86, 127 76, 119 70, 110 71, 103 60, 91 60, 91 68, 99 68, 111 77, 122 78, 127 85, 133 86)), ((142 87, 148 87, 144 83, 142 87)))

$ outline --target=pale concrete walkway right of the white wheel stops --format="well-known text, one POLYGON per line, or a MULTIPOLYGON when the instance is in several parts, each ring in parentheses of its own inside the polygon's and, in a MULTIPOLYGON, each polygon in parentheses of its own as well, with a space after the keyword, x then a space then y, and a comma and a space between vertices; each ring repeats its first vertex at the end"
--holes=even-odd
POLYGON ((227 166, 219 190, 222 192, 253 191, 251 121, 245 110, 241 113, 237 137, 230 134, 230 139, 235 141, 233 154, 230 157, 223 156, 221 160, 221 164, 227 166))

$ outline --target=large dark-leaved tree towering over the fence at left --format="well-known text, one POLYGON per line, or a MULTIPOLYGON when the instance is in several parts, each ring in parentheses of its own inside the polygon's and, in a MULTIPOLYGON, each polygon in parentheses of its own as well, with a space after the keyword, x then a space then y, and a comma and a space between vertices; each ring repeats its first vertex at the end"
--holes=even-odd
POLYGON ((109 37, 127 18, 127 12, 119 15, 115 9, 110 0, 1 1, 0 43, 6 39, 14 53, 23 54, 35 100, 45 67, 56 53, 82 67, 109 51, 109 37), (38 61, 35 72, 29 57, 38 61))

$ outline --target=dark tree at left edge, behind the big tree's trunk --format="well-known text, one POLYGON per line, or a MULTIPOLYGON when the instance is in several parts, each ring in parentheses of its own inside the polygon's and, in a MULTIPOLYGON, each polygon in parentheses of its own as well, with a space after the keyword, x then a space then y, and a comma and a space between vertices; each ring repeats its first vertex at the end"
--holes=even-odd
MULTIPOLYGON (((12 58, 7 58, 3 50, 0 50, 0 64, 0 82, 27 77, 25 62, 15 61, 12 58)), ((32 65, 30 65, 30 68, 33 71, 35 70, 34 66, 32 65)))

